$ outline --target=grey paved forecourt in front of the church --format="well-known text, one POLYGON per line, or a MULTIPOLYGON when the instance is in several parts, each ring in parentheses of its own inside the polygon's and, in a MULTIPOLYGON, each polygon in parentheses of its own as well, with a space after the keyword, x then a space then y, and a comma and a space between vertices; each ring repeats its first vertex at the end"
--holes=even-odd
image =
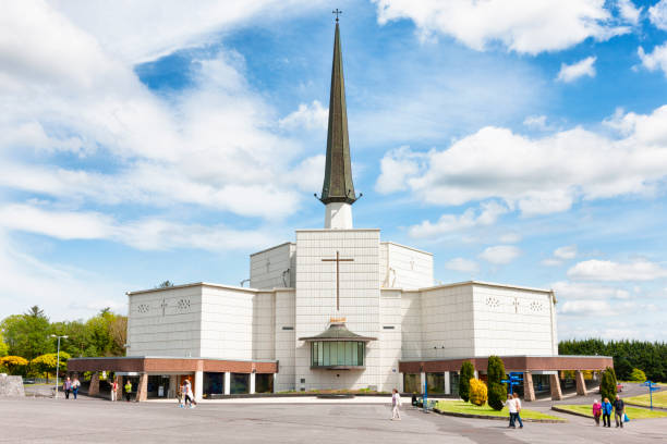
MULTIPOLYGON (((534 405, 543 411, 548 406, 534 405)), ((388 403, 300 399, 292 404, 110 403, 97 398, 0 399, 0 443, 657 443, 667 419, 633 421, 623 430, 595 428, 592 420, 563 416, 566 424, 526 423, 508 430, 504 421, 423 414, 404 406, 390 421, 388 403)))

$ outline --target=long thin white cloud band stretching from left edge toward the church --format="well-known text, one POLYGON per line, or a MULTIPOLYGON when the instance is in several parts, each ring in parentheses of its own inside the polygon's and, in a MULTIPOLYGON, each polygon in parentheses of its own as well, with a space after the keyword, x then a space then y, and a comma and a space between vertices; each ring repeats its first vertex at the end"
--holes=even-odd
POLYGON ((114 240, 145 250, 198 248, 221 251, 262 248, 275 240, 263 230, 182 224, 158 218, 121 223, 99 212, 46 210, 29 205, 0 207, 0 226, 59 239, 114 240))

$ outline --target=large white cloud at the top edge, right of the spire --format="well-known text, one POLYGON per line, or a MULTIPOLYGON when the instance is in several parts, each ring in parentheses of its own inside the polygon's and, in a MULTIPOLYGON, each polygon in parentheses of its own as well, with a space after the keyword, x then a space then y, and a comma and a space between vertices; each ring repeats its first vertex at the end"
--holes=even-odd
POLYGON ((604 0, 374 2, 380 24, 410 18, 424 38, 439 33, 476 50, 498 41, 511 51, 536 54, 570 48, 587 38, 607 40, 629 32, 613 23, 604 0))

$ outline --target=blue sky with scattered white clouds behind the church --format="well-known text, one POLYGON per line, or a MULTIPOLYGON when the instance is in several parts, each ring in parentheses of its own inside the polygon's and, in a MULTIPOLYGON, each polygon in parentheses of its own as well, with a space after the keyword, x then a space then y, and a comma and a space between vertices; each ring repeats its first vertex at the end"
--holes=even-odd
POLYGON ((322 227, 335 8, 354 225, 553 288, 562 340, 667 341, 667 0, 5 2, 0 318, 322 227))

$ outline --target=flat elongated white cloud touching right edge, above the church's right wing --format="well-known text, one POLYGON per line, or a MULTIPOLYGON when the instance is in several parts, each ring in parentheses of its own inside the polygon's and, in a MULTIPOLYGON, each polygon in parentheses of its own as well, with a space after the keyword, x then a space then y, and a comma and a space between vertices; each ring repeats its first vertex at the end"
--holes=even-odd
POLYGON ((568 270, 568 278, 579 281, 653 281, 667 278, 667 268, 644 259, 629 263, 586 260, 568 270))

